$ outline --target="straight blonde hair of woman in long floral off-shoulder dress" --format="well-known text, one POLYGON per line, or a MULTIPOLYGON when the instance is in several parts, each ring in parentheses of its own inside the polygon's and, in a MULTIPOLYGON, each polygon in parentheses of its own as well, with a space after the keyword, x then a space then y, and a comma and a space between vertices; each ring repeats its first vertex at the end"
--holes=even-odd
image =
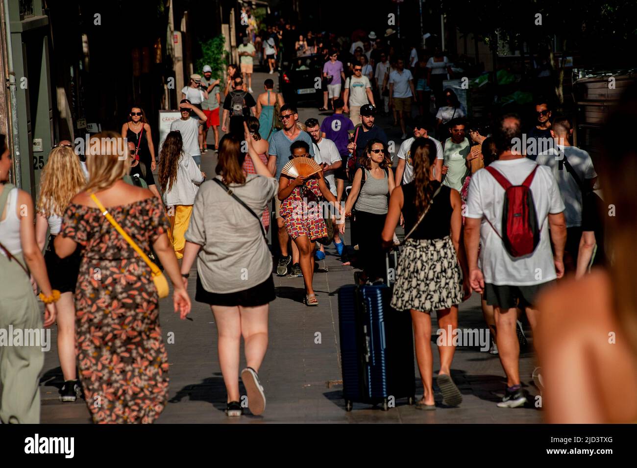
POLYGON ((89 183, 85 190, 97 192, 110 187, 128 173, 128 146, 117 132, 100 132, 90 138, 86 151, 89 183))

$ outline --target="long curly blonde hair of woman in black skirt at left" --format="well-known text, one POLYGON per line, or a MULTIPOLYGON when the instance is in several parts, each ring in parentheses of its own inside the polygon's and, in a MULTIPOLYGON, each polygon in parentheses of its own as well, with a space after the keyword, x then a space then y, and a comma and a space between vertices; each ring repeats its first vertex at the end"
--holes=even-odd
POLYGON ((64 215, 71 199, 84 188, 86 178, 80 158, 69 146, 58 146, 48 154, 42 169, 38 212, 45 216, 64 215))

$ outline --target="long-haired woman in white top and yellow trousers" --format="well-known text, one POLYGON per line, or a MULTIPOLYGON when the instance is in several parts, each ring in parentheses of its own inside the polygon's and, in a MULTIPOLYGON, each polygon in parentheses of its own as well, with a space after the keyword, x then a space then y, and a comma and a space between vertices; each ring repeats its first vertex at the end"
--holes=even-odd
POLYGON ((161 148, 159 191, 168 207, 168 240, 173 244, 178 259, 183 258, 186 243, 183 234, 188 229, 199 184, 205 177, 192 156, 183 152, 182 134, 170 132, 161 148))

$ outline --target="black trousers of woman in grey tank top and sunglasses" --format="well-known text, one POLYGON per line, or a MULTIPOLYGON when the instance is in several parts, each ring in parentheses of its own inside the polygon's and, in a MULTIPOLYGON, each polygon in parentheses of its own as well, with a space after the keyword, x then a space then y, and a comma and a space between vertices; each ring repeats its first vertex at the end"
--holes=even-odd
POLYGON ((359 259, 368 279, 385 278, 385 254, 382 233, 387 215, 374 215, 356 211, 356 230, 359 241, 359 259))

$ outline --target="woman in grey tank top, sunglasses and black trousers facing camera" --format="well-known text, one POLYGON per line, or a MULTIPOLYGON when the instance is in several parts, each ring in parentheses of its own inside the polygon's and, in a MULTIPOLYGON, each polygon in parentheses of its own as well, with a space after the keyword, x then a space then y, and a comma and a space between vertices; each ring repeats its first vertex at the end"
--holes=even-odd
POLYGON ((345 204, 345 216, 350 216, 352 208, 355 208, 359 255, 366 279, 374 282, 385 278, 381 234, 387 216, 387 200, 395 187, 394 173, 387 146, 380 139, 369 141, 359 162, 362 167, 354 174, 352 192, 345 204))

